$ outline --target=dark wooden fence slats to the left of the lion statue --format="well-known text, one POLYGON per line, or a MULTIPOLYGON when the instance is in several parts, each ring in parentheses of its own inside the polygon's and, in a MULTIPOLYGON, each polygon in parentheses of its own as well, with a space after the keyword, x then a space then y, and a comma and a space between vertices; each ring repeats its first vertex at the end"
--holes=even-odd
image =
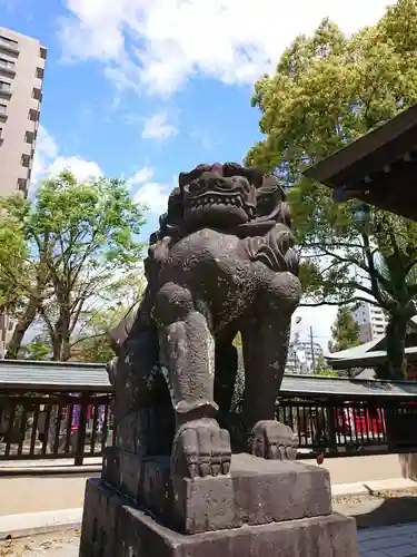
POLYGON ((112 443, 109 394, 0 394, 0 460, 100 457, 112 443))

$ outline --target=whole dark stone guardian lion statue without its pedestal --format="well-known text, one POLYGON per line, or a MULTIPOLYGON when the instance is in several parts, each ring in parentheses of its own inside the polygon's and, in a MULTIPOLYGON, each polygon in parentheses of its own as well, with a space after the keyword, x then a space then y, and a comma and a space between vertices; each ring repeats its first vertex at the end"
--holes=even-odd
POLYGON ((230 468, 225 424, 241 333, 246 450, 296 457, 292 431, 275 420, 290 319, 301 295, 289 212, 277 179, 234 163, 200 165, 179 186, 150 237, 148 286, 115 338, 109 365, 119 441, 171 455, 171 475, 230 468), (125 438, 125 439, 123 439, 125 438))

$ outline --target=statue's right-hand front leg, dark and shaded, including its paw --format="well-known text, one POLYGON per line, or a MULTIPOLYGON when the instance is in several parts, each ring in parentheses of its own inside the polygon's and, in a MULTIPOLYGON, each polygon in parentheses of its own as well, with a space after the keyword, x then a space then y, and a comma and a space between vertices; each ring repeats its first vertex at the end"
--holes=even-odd
POLYGON ((298 280, 289 273, 280 275, 271 287, 287 286, 282 295, 262 293, 257 316, 241 329, 244 420, 248 450, 267 459, 295 458, 298 444, 291 429, 276 420, 276 401, 287 361, 291 315, 300 295, 298 280), (282 281, 282 285, 278 281, 282 281))

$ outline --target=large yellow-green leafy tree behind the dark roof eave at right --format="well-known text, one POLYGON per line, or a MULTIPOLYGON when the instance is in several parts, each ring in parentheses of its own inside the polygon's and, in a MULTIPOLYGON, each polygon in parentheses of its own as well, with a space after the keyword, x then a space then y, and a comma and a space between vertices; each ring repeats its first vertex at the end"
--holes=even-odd
POLYGON ((266 138, 247 155, 289 188, 306 302, 374 299, 389 314, 387 378, 401 374, 416 313, 417 223, 374 209, 371 225, 358 227, 353 203, 334 203, 329 188, 301 173, 417 101, 416 51, 416 0, 399 0, 349 38, 324 20, 312 37, 295 39, 272 77, 257 81, 252 104, 266 138))

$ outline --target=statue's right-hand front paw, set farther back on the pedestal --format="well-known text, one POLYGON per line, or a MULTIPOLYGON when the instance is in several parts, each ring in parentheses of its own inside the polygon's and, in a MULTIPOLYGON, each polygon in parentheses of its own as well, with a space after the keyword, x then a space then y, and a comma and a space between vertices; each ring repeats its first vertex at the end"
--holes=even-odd
POLYGON ((258 421, 249 440, 249 451, 270 460, 295 460, 298 439, 291 428, 276 420, 258 421))

